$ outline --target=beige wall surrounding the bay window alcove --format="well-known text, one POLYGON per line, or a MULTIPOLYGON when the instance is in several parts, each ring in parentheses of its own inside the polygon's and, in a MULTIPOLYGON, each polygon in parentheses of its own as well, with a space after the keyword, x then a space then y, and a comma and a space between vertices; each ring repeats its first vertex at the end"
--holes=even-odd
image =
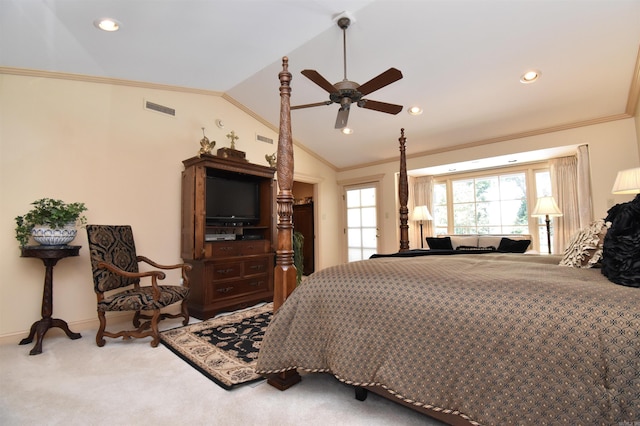
MULTIPOLYGON (((407 155, 411 157, 412 146, 414 146, 411 129, 407 128, 405 134, 407 136, 407 155)), ((604 217, 607 210, 614 204, 629 201, 633 198, 630 195, 611 194, 611 187, 618 170, 640 165, 640 147, 633 118, 474 148, 409 158, 407 160, 407 169, 421 169, 517 152, 580 144, 589 145, 594 215, 595 217, 604 217)), ((383 220, 380 223, 380 243, 382 251, 385 253, 397 251, 399 248, 398 225, 400 219, 396 207, 397 172, 398 162, 393 161, 382 165, 338 173, 339 181, 354 180, 361 176, 384 175, 381 190, 383 220)))

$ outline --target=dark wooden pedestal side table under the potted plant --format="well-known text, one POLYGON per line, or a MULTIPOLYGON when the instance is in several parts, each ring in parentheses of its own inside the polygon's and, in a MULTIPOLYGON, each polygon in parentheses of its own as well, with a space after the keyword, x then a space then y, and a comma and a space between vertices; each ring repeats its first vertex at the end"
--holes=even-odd
POLYGON ((36 321, 31 326, 29 336, 20 341, 21 345, 26 345, 33 341, 36 336, 36 344, 29 352, 29 355, 42 353, 42 339, 45 333, 52 327, 61 328, 70 339, 75 340, 82 337, 80 333, 69 330, 66 321, 51 318, 53 314, 53 267, 58 260, 65 257, 78 256, 81 246, 24 246, 21 257, 37 257, 42 259, 46 272, 44 275, 44 290, 42 292, 42 319, 36 321))

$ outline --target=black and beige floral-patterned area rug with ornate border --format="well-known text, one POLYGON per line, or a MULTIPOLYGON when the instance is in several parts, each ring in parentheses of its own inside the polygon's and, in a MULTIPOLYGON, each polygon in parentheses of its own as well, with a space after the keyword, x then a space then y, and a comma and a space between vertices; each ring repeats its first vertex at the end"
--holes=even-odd
POLYGON ((263 379, 255 365, 273 303, 160 333, 161 342, 224 389, 263 379))

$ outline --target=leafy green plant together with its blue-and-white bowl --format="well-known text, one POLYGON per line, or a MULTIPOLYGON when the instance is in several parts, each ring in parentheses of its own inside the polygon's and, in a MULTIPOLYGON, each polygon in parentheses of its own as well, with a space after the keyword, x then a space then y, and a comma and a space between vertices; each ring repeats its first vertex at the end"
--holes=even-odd
POLYGON ((30 236, 43 245, 67 244, 76 236, 76 225, 87 223, 82 214, 87 210, 84 203, 42 198, 31 205, 33 208, 29 212, 15 219, 16 239, 20 246, 27 245, 30 236))

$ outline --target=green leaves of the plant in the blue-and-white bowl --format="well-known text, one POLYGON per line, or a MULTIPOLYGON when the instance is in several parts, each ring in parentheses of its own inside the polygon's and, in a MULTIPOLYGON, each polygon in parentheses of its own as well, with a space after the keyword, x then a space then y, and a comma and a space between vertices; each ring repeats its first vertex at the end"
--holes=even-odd
POLYGON ((42 198, 31 205, 33 208, 27 214, 16 216, 16 239, 21 246, 29 242, 34 226, 46 225, 52 229, 59 229, 69 223, 87 223, 87 218, 82 214, 87 210, 84 203, 67 204, 62 200, 42 198))

